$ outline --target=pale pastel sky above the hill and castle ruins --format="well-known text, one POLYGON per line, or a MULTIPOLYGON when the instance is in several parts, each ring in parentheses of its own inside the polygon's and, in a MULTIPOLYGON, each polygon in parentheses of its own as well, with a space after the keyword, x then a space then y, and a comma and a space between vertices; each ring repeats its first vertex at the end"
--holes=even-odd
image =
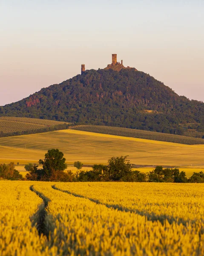
POLYGON ((204 101, 204 0, 0 0, 0 106, 112 53, 204 101))

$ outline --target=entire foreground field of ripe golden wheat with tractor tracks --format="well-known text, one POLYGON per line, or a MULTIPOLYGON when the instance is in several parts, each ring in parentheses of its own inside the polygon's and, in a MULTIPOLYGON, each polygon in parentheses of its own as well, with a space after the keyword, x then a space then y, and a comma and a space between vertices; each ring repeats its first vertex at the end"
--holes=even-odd
POLYGON ((204 184, 0 181, 0 193, 2 256, 204 255, 204 184))

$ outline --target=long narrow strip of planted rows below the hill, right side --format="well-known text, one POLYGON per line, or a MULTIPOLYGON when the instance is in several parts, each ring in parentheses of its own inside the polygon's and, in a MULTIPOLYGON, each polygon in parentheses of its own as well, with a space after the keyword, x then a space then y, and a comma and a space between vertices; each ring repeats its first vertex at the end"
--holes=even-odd
POLYGON ((158 140, 179 144, 196 145, 204 144, 204 139, 182 136, 177 134, 165 134, 155 131, 143 131, 130 128, 102 126, 102 125, 78 125, 72 127, 78 131, 89 131, 100 134, 110 134, 124 137, 132 137, 146 140, 158 140))

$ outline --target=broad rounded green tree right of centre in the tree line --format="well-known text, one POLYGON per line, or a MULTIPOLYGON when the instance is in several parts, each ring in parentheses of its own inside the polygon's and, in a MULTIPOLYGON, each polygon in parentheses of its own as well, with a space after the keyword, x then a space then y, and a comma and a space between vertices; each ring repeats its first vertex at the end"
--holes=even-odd
POLYGON ((127 160, 128 156, 112 157, 108 160, 109 179, 119 181, 132 172, 132 164, 127 160))

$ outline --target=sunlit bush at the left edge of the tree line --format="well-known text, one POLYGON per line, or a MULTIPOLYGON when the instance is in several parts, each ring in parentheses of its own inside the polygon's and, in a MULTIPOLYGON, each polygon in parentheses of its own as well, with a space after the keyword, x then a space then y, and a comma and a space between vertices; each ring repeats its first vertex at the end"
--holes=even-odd
POLYGON ((0 178, 6 180, 22 180, 23 176, 15 169, 13 162, 0 164, 0 178))

